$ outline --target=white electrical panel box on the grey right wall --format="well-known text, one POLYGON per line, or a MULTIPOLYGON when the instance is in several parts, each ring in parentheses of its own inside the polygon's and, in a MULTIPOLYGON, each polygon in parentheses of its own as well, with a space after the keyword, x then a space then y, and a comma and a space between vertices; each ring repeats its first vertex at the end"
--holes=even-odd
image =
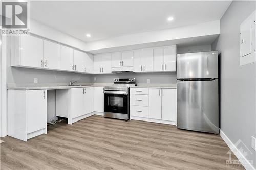
POLYGON ((240 66, 256 62, 255 11, 240 25, 240 66))

